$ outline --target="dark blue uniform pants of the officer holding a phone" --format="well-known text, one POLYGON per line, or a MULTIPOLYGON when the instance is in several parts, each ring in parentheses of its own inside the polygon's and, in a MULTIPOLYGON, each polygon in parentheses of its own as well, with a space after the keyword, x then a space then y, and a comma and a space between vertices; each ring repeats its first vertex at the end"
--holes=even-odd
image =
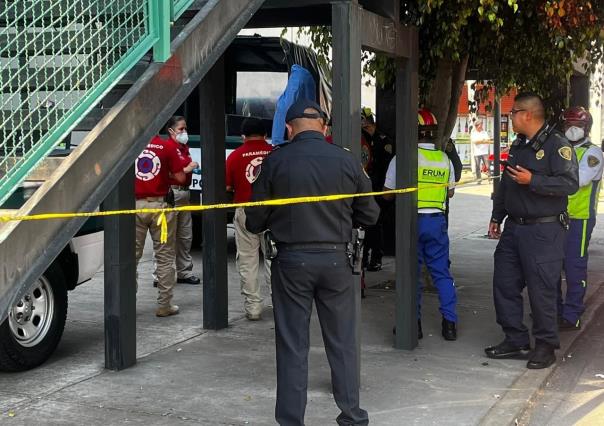
POLYGON ((566 232, 558 223, 518 225, 507 220, 495 250, 493 297, 497 323, 513 345, 529 343, 523 322, 522 291, 527 287, 533 337, 558 347, 556 300, 566 232))

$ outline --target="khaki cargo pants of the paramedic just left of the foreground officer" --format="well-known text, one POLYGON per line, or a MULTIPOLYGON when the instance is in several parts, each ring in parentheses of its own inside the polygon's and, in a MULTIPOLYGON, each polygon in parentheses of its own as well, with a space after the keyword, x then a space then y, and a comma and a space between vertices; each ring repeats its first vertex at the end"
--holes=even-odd
MULTIPOLYGON (((245 211, 235 210, 235 244, 237 245, 237 269, 241 279, 241 294, 245 297, 245 312, 250 315, 262 313, 262 294, 258 281, 260 250, 265 253, 263 234, 254 234, 245 228, 245 211)), ((264 258, 265 282, 270 289, 271 261, 264 258)))

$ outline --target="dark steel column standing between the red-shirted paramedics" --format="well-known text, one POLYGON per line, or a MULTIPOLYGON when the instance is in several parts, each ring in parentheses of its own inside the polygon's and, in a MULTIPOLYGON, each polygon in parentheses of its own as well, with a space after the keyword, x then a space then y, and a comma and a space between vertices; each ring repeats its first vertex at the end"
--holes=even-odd
MULTIPOLYGON (((225 84, 224 57, 199 85, 203 203, 224 203, 225 84)), ((203 212, 203 328, 228 326, 226 211, 203 212)))

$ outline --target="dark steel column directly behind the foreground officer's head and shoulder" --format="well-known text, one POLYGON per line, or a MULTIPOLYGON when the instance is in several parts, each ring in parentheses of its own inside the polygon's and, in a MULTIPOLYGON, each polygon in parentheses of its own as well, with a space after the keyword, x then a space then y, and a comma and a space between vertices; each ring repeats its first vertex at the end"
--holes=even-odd
MULTIPOLYGON (((333 135, 337 145, 350 149, 361 161, 361 8, 357 1, 332 5, 333 135)), ((354 276, 356 341, 361 349, 361 280, 354 276)), ((361 357, 357 374, 361 375, 361 357)))

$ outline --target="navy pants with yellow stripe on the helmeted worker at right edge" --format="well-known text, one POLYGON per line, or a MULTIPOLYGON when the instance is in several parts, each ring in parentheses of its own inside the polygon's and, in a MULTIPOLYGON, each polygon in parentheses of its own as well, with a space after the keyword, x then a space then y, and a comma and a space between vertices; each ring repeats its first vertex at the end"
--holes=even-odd
POLYGON ((587 249, 596 219, 571 219, 566 235, 564 274, 566 297, 562 297, 561 282, 558 286, 558 315, 576 323, 583 312, 583 298, 587 289, 587 249))

